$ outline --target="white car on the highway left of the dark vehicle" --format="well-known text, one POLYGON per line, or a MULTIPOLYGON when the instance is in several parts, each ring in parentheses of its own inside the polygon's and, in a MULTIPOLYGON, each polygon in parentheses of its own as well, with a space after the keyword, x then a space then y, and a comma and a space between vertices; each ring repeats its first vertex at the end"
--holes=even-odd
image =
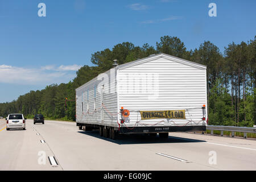
POLYGON ((6 130, 23 129, 26 130, 26 119, 23 114, 9 114, 6 118, 6 130))

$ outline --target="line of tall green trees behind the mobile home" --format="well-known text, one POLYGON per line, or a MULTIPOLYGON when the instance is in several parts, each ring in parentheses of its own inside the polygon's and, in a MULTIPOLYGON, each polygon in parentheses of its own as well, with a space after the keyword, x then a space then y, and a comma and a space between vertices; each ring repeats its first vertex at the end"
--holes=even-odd
POLYGON ((255 97, 255 39, 220 49, 209 41, 195 50, 188 50, 177 37, 163 36, 156 46, 123 42, 112 49, 106 48, 92 54, 94 66, 84 65, 76 77, 67 84, 52 84, 45 89, 30 91, 17 100, 0 104, 0 115, 23 113, 28 117, 44 114, 48 118, 75 121, 75 89, 100 73, 113 68, 113 60, 124 64, 156 53, 207 65, 208 116, 210 125, 253 126, 256 124, 255 97), (68 98, 65 105, 65 98, 68 98))

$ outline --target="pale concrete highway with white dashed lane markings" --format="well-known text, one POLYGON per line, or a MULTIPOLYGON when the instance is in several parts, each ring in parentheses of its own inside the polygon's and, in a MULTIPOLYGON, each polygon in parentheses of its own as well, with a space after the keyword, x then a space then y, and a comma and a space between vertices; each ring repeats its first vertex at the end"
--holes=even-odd
POLYGON ((0 120, 0 170, 256 169, 255 139, 169 133, 166 140, 145 135, 112 140, 98 131, 79 130, 75 122, 34 125, 28 119, 26 130, 7 131, 5 126, 0 120))

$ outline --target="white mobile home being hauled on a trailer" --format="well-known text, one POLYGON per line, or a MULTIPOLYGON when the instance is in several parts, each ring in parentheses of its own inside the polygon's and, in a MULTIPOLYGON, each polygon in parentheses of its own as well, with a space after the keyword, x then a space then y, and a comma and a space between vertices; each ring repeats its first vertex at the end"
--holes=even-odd
POLYGON ((100 135, 205 131, 207 67, 159 53, 117 65, 76 89, 76 122, 100 135))

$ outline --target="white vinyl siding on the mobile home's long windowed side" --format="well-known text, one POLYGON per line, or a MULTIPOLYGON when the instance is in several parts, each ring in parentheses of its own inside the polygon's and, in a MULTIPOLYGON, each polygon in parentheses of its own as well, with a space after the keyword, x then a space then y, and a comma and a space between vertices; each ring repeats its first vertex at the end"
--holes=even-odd
MULTIPOLYGON (((106 74, 110 82, 110 71, 106 72, 106 74)), ((84 112, 81 112, 81 109, 76 109, 76 121, 81 123, 101 123, 109 126, 117 123, 116 84, 116 81, 114 81, 109 85, 108 92, 104 90, 103 98, 101 98, 101 92, 98 92, 98 86, 101 87, 101 80, 97 80, 97 77, 76 89, 77 107, 81 106, 82 92, 86 93, 86 103, 88 103, 84 112), (89 94, 88 96, 87 93, 89 94), (104 123, 101 121, 101 101, 104 104, 103 108, 105 108, 103 109, 104 123)), ((83 95, 83 97, 85 96, 83 95)))

